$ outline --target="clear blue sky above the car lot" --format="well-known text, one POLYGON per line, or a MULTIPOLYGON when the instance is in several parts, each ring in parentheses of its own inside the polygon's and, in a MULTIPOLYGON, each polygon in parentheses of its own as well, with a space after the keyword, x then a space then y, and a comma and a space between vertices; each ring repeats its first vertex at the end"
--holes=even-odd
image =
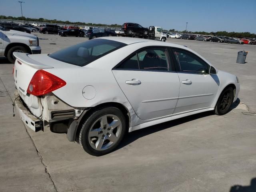
MULTIPOLYGON (((23 16, 188 31, 256 33, 256 0, 22 0, 23 16)), ((0 15, 21 16, 18 0, 0 0, 0 15)))

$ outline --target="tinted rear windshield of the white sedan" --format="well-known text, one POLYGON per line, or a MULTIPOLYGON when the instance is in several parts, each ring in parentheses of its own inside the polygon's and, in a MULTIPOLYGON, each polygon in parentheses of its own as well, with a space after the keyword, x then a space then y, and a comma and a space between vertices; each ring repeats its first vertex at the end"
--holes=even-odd
POLYGON ((117 41, 94 39, 49 54, 49 57, 76 66, 86 66, 124 46, 126 44, 117 41))

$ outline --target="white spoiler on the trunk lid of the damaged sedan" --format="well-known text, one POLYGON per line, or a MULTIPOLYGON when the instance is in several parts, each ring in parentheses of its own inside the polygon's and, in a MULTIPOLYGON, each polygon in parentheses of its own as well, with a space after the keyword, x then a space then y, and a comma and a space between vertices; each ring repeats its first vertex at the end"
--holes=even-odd
POLYGON ((53 68, 52 66, 48 66, 48 65, 44 65, 40 62, 37 62, 35 60, 33 60, 32 58, 30 58, 28 56, 28 53, 19 53, 19 52, 14 52, 13 56, 18 59, 20 62, 22 62, 22 64, 27 64, 29 66, 31 66, 32 68, 35 69, 47 69, 47 68, 53 68))

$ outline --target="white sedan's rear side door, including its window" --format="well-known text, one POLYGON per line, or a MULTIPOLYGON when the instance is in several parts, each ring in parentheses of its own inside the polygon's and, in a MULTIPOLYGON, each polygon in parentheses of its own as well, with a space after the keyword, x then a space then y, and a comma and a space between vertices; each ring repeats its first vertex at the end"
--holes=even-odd
POLYGON ((140 50, 112 70, 118 85, 140 119, 173 114, 180 80, 166 48, 140 50))

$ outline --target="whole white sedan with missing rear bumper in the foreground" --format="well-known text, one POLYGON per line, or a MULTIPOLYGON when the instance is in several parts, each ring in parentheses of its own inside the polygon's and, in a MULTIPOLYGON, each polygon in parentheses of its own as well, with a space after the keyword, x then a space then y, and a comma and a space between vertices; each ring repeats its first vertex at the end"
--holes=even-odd
POLYGON ((15 52, 15 106, 34 131, 66 132, 89 154, 113 151, 126 132, 192 114, 226 114, 235 75, 185 46, 96 38, 52 54, 15 52))

